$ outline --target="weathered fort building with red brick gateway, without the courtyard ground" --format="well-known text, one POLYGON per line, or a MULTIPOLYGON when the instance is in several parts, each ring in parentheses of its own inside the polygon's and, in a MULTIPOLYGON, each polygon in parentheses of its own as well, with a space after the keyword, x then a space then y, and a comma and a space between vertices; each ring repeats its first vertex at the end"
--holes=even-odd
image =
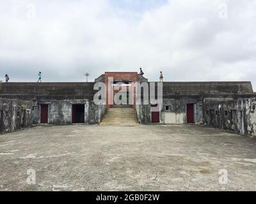
MULTIPOLYGON (((256 136, 256 94, 251 82, 163 82, 159 108, 143 102, 116 105, 108 100, 96 105, 93 97, 98 92, 94 87, 97 82, 106 84, 107 98, 109 87, 118 82, 127 87, 134 82, 150 84, 136 72, 105 72, 95 82, 0 83, 0 132, 38 124, 191 123, 256 136), (109 78, 113 78, 111 84, 109 78)), ((117 85, 113 96, 118 90, 117 85)), ((127 90, 120 98, 130 96, 131 89, 127 90)), ((136 97, 134 94, 134 101, 136 97)))

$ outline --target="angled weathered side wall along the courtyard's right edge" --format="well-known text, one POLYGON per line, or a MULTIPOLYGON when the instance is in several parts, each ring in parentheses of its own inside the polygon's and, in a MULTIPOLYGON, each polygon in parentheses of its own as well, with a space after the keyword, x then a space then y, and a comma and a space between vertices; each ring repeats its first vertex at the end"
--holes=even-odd
POLYGON ((204 125, 256 136, 255 106, 255 98, 205 102, 204 125))

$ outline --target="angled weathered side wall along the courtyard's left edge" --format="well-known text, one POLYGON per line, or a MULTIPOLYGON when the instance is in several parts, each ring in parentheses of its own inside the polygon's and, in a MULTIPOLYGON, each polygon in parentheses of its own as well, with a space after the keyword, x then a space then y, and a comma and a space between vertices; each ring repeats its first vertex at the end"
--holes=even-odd
POLYGON ((7 133, 32 125, 32 102, 0 98, 0 132, 7 133))

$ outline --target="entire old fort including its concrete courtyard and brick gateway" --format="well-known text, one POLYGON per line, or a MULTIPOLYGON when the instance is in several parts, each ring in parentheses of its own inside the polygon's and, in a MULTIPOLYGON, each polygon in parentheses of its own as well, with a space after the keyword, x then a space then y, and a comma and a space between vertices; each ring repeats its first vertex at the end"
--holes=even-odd
POLYGON ((251 82, 134 72, 0 83, 0 191, 253 191, 255 98, 251 82))

